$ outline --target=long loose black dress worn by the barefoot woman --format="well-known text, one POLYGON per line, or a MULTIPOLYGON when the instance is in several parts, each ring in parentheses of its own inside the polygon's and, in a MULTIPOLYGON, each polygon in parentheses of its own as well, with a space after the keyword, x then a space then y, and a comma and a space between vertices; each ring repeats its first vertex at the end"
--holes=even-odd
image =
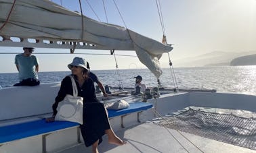
MULTIPOLYGON (((102 136, 105 134, 106 129, 110 129, 108 115, 104 104, 100 103, 95 96, 95 88, 93 81, 88 78, 85 80, 83 86, 80 88, 78 82, 77 90, 78 96, 83 97, 83 125, 80 125, 85 146, 91 146, 97 140, 102 142, 102 136)), ((72 95, 72 83, 69 76, 62 80, 60 91, 55 98, 55 103, 52 108, 54 115, 57 114, 58 103, 64 99, 66 94, 72 95)))

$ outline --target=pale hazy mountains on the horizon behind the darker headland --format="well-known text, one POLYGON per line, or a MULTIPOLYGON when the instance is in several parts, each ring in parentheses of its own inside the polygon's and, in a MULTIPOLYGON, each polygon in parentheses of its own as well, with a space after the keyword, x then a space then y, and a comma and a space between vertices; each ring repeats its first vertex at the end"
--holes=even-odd
POLYGON ((256 65, 256 51, 213 51, 196 57, 173 60, 173 67, 228 66, 232 61, 232 65, 256 65))

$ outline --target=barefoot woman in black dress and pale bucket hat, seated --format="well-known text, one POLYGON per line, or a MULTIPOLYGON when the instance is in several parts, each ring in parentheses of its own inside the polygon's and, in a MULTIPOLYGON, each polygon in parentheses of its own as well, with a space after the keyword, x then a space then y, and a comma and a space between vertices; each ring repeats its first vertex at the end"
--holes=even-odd
MULTIPOLYGON (((125 141, 121 140, 114 134, 108 120, 108 114, 104 104, 100 103, 95 96, 95 88, 93 81, 88 78, 89 69, 86 61, 83 58, 75 57, 68 65, 72 71, 72 76, 77 84, 78 96, 83 97, 83 125, 80 125, 85 146, 92 145, 92 151, 98 152, 98 144, 102 142, 102 136, 106 133, 108 135, 108 142, 110 144, 123 145, 125 141)), ((62 80, 60 91, 56 96, 55 103, 52 108, 54 115, 48 118, 47 121, 54 121, 57 114, 58 103, 61 102, 66 94, 73 95, 72 83, 69 76, 62 80)))

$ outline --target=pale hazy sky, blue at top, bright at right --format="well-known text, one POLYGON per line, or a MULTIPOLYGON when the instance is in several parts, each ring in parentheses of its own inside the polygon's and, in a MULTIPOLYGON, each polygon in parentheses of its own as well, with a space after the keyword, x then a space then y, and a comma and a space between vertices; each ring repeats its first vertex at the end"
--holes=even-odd
MULTIPOLYGON (((53 0, 72 11, 80 11, 79 1, 53 0)), ((118 0, 116 5, 125 21, 123 23, 114 2, 87 0, 101 22, 127 26, 144 36, 161 41, 163 30, 155 0, 118 0), (106 16, 108 21, 106 20, 106 16)), ((98 20, 86 0, 81 0, 83 14, 98 20)), ((256 51, 256 0, 160 0, 167 42, 173 44, 169 53, 173 66, 175 61, 186 57, 211 53, 213 51, 245 52, 256 51)), ((0 39, 1 40, 1 39, 0 39)), ((68 49, 35 49, 35 53, 50 53, 68 49)), ((21 47, 0 47, 0 73, 17 72, 14 65, 15 53, 23 53, 21 47)), ((110 51, 76 50, 76 53, 110 53, 110 51)), ((135 55, 134 51, 116 54, 135 55)), ((91 69, 115 69, 113 55, 43 55, 39 59, 40 71, 68 71, 66 65, 73 57, 89 61, 91 69)), ((119 69, 145 68, 137 57, 116 56, 119 69)), ((168 67, 168 54, 160 60, 162 67, 168 67)))

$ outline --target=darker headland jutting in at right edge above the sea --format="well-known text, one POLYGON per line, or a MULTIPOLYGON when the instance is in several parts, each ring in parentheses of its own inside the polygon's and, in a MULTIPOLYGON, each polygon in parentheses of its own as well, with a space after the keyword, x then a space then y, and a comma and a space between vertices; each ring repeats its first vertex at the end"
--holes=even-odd
POLYGON ((230 62, 230 65, 256 65, 256 54, 238 57, 230 62))

